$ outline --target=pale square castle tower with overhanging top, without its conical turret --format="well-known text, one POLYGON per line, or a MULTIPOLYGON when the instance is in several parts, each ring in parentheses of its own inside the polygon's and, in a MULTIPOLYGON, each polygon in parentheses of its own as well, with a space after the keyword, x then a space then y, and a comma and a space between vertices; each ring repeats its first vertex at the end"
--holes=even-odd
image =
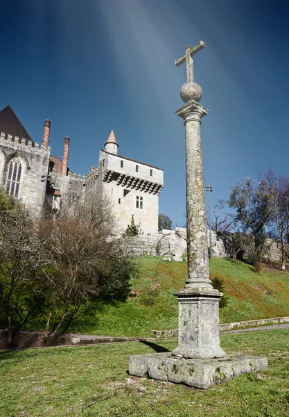
POLYGON ((91 186, 86 186, 85 193, 90 190, 112 201, 121 230, 128 227, 133 216, 137 227, 148 234, 158 229, 159 193, 163 183, 164 172, 157 167, 100 150, 97 179, 91 178, 91 186))

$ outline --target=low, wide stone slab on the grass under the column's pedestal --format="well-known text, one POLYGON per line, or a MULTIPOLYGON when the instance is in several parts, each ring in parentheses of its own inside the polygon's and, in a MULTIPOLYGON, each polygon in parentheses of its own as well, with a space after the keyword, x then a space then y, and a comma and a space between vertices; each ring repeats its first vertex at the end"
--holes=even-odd
POLYGON ((219 359, 177 359, 170 352, 130 356, 129 373, 208 389, 231 378, 267 369, 266 357, 227 354, 219 359))

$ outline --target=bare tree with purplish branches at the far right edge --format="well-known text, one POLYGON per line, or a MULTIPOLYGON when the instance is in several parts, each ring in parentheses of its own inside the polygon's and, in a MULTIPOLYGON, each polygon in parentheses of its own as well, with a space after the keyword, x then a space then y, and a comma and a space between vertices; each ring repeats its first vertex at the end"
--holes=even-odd
POLYGON ((264 176, 270 194, 271 219, 277 236, 281 241, 281 268, 285 270, 286 234, 289 222, 289 178, 268 170, 264 176))

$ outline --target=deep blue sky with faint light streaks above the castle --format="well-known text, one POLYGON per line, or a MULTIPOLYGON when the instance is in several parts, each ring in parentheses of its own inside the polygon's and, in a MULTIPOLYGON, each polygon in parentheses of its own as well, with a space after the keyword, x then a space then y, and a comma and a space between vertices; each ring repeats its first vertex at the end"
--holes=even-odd
MULTIPOLYGON (((1 0, 0 108, 85 174, 114 129, 119 153, 164 170, 159 210, 184 223, 184 126, 175 115, 200 40, 195 81, 212 202, 271 167, 288 174, 289 6, 254 0, 1 0)), ((207 197, 207 195, 206 195, 207 197)))

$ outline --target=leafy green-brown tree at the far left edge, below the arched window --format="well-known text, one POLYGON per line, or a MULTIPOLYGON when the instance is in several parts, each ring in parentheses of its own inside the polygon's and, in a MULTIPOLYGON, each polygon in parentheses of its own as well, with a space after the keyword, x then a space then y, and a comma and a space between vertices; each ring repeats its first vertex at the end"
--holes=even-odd
POLYGON ((42 263, 42 245, 25 206, 15 201, 0 211, 1 293, 9 343, 13 329, 24 326, 40 307, 35 277, 42 263))

